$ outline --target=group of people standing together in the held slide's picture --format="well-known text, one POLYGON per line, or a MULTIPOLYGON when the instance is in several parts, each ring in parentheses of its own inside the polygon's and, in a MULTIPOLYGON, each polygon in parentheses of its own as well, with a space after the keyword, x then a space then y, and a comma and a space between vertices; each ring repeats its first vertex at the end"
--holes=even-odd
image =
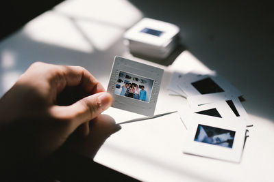
POLYGON ((125 82, 125 85, 122 86, 120 95, 125 97, 131 97, 136 100, 147 100, 147 91, 143 85, 138 86, 136 83, 125 82))

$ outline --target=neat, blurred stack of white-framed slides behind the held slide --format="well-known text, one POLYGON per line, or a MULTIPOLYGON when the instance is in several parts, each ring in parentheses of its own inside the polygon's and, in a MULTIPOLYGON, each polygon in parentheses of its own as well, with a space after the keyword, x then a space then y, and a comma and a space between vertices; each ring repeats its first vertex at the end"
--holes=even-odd
POLYGON ((166 59, 179 44, 179 27, 143 18, 125 32, 125 44, 134 55, 166 59))

